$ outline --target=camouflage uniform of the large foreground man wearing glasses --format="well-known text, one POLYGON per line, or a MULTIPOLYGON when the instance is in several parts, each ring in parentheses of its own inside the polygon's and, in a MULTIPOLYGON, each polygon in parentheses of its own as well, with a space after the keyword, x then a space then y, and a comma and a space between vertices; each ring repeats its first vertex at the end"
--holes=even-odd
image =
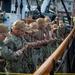
MULTIPOLYGON (((10 35, 11 36, 5 41, 5 44, 8 46, 8 48, 13 51, 21 49, 26 42, 25 39, 23 37, 17 37, 13 33, 10 33, 10 35)), ((6 65, 6 69, 9 72, 29 73, 30 70, 28 68, 27 61, 27 54, 24 52, 18 57, 17 60, 9 60, 8 64, 6 65)))

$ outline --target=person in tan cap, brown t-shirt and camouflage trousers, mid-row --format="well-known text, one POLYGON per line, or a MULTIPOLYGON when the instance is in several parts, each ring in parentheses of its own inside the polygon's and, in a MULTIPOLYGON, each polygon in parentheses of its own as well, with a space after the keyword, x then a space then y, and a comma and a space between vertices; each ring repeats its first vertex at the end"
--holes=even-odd
MULTIPOLYGON (((33 34, 34 38, 39 41, 44 40, 44 39, 47 40, 48 33, 47 33, 46 29, 44 28, 44 25, 45 25, 44 19, 38 18, 36 20, 36 23, 37 23, 37 27, 38 27, 39 31, 33 34)), ((45 61, 45 58, 46 58, 46 53, 45 53, 46 46, 47 46, 47 43, 43 44, 43 46, 40 48, 39 60, 41 60, 41 62, 45 61)), ((41 64, 41 62, 39 61, 40 64, 41 64)))

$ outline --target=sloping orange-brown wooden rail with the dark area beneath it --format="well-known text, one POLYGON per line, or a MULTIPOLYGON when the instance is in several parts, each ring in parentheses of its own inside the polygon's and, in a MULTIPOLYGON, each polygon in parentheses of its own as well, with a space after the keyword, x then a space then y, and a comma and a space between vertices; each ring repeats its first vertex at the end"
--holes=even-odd
POLYGON ((73 30, 61 43, 61 45, 33 73, 33 75, 48 75, 48 74, 54 75, 54 72, 64 72, 64 73, 73 72, 74 52, 75 52, 74 32, 75 28, 73 28, 73 30))

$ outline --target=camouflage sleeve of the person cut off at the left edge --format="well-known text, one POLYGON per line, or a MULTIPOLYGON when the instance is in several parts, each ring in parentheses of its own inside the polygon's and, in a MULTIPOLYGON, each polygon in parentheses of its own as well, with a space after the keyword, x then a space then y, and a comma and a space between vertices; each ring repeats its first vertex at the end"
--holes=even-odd
POLYGON ((4 46, 1 50, 1 56, 6 60, 17 60, 18 56, 16 52, 8 49, 8 47, 4 46))

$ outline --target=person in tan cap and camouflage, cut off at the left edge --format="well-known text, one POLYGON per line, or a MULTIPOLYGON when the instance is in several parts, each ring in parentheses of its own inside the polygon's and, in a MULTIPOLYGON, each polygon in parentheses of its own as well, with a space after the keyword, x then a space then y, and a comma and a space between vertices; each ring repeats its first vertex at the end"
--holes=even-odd
POLYGON ((8 37, 8 27, 0 23, 0 36, 3 35, 2 39, 0 39, 0 72, 5 72, 6 60, 17 59, 17 53, 8 49, 8 47, 4 44, 3 40, 5 37, 8 37))

